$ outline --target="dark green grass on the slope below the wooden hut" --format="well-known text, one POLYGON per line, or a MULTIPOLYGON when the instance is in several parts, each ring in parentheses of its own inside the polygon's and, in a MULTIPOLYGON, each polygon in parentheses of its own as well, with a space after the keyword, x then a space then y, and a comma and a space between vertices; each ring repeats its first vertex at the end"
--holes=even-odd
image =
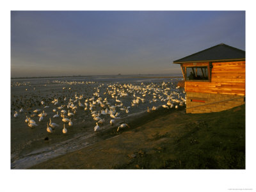
MULTIPOLYGON (((138 153, 129 164, 115 168, 143 169, 245 169, 245 106, 218 113, 185 114, 180 124, 186 132, 175 140, 172 134, 151 153, 138 153)), ((178 120, 180 121, 180 120, 178 120)), ((141 149, 143 151, 143 149, 141 149)))

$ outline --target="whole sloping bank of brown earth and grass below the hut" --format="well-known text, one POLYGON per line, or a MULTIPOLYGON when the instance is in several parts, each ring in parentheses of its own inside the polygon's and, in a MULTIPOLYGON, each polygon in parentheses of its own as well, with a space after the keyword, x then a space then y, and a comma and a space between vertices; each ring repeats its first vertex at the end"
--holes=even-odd
POLYGON ((121 133, 112 132, 112 138, 32 168, 245 168, 244 105, 218 113, 154 113, 144 116, 143 124, 134 123, 121 133))

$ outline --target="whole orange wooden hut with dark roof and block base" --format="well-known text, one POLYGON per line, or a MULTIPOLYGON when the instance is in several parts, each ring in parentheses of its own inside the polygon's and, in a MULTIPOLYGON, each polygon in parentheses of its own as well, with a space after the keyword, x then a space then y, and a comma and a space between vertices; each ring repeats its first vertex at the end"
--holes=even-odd
POLYGON ((219 44, 180 60, 186 112, 210 113, 245 102, 245 51, 219 44))

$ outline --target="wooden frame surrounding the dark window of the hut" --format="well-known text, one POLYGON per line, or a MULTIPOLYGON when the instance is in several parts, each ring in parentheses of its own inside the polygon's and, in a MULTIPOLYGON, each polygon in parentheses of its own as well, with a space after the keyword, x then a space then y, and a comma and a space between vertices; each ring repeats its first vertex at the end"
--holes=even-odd
POLYGON ((182 63, 182 73, 185 81, 188 82, 211 82, 211 68, 212 63, 211 62, 202 62, 202 63, 182 63), (208 79, 200 80, 200 79, 188 79, 187 74, 187 67, 207 67, 208 70, 208 79))

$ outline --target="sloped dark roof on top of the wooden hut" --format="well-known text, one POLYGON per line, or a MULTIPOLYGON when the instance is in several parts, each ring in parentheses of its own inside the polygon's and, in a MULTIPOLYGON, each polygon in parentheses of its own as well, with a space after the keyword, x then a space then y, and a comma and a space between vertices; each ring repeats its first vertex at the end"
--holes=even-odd
POLYGON ((202 61, 241 61, 245 60, 245 51, 225 44, 215 45, 196 52, 173 63, 190 63, 202 61))

